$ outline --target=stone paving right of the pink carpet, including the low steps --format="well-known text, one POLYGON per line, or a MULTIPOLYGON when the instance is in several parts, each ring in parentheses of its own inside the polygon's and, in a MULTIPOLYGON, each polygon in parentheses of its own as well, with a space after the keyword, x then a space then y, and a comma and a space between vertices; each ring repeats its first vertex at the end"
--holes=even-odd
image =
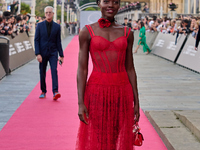
POLYGON ((140 106, 168 150, 200 150, 200 75, 142 47, 134 63, 140 106))

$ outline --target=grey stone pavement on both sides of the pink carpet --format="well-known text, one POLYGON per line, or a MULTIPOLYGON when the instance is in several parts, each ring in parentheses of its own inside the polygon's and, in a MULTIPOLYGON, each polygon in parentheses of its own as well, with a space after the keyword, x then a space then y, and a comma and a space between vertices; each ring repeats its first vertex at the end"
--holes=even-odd
MULTIPOLYGON (((63 39, 63 49, 72 38, 63 39)), ((153 54, 145 55, 142 47, 134 54, 134 65, 140 106, 167 148, 199 150, 200 75, 153 54)), ((0 130, 38 82, 36 60, 0 81, 0 130)))

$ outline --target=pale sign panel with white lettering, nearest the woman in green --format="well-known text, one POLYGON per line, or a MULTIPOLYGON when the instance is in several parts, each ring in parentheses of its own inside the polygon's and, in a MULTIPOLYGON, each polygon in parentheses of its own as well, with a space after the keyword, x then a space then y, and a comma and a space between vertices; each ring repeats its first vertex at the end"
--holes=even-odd
POLYGON ((152 53, 174 62, 185 39, 184 34, 179 34, 175 45, 176 34, 159 33, 153 44, 152 53))

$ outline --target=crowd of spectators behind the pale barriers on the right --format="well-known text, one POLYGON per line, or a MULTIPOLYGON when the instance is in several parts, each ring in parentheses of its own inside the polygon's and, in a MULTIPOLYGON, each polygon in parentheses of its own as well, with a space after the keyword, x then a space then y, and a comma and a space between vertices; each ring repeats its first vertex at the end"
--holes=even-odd
POLYGON ((200 17, 182 17, 179 16, 175 19, 171 18, 157 18, 156 16, 144 17, 143 19, 131 20, 124 18, 124 25, 131 27, 133 30, 140 30, 140 22, 144 23, 146 31, 149 32, 162 32, 165 34, 189 34, 191 33, 194 38, 199 30, 200 17))

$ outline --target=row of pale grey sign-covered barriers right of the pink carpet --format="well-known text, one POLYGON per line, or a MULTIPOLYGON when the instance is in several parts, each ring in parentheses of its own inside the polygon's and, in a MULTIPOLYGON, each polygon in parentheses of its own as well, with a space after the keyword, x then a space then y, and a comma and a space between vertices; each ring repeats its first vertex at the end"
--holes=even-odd
MULTIPOLYGON (((196 51, 195 38, 192 35, 179 34, 175 44, 176 36, 146 32, 146 42, 153 54, 200 73, 200 46, 196 51)), ((138 40, 139 31, 134 31, 133 50, 137 47, 138 40)))

